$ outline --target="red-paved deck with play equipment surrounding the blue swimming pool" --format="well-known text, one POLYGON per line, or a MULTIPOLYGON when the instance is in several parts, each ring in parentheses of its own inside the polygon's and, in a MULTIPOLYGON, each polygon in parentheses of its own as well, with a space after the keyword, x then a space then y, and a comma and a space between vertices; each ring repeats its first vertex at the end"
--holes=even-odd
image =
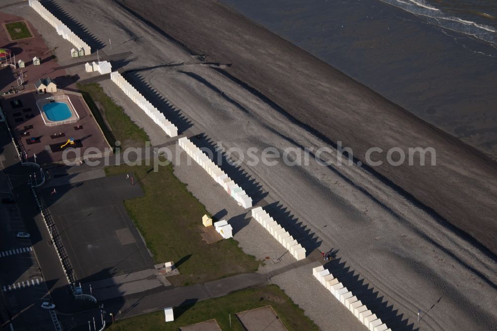
MULTIPOLYGON (((36 154, 36 161, 40 164, 60 163, 62 161, 62 150, 61 152, 52 152, 50 145, 62 145, 69 138, 81 141, 83 145, 81 155, 90 147, 97 148, 102 152, 109 148, 81 94, 63 91, 59 91, 57 94, 61 93, 69 96, 75 110, 78 112, 80 120, 77 122, 57 126, 45 125, 36 101, 51 94, 38 95, 34 91, 25 91, 6 95, 6 98, 0 101, 14 138, 21 150, 27 153, 31 162, 34 161, 33 154, 36 154), (15 106, 13 100, 20 100, 22 106, 15 106), (80 129, 77 126, 82 126, 83 128, 80 129), (62 133, 62 135, 57 135, 59 133, 62 133), (32 142, 33 138, 34 141, 32 142)), ((74 154, 71 155, 73 156, 74 154)))

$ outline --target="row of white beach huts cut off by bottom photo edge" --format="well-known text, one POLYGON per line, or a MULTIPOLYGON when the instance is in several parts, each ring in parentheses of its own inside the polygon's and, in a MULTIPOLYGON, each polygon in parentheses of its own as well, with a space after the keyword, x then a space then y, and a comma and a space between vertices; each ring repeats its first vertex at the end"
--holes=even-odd
POLYGON ((366 305, 343 286, 343 284, 330 273, 330 270, 325 269, 324 266, 320 265, 313 268, 312 273, 314 277, 316 277, 316 279, 370 331, 391 331, 376 314, 373 314, 366 305))

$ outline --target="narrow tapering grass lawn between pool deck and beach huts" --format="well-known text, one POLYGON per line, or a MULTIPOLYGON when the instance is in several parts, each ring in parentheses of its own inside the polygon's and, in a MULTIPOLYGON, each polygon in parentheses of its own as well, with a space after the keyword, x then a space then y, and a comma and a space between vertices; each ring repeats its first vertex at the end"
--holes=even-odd
POLYGON ((149 140, 145 130, 138 127, 99 84, 78 84, 78 89, 112 147, 116 140, 121 142, 122 148, 143 147, 149 140))

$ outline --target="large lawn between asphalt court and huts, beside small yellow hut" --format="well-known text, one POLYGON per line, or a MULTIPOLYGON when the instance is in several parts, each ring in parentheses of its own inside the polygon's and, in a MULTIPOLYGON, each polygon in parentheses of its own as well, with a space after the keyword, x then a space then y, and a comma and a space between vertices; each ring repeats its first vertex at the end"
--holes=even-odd
POLYGON ((180 275, 168 277, 174 285, 204 283, 257 270, 259 261, 233 239, 207 244, 202 241, 205 207, 173 174, 172 165, 108 166, 107 175, 134 173, 145 196, 124 205, 153 252, 156 263, 174 261, 180 275))

